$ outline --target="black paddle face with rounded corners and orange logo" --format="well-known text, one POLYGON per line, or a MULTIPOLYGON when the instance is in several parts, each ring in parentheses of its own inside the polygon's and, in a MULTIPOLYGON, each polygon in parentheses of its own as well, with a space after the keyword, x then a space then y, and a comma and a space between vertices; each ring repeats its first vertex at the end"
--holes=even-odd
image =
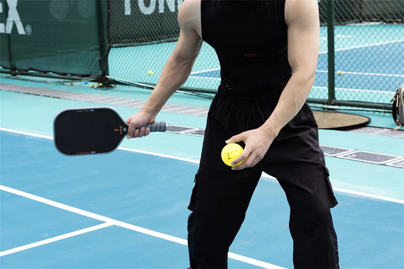
POLYGON ((108 153, 121 143, 127 127, 108 107, 65 110, 54 119, 54 142, 65 155, 108 153))

